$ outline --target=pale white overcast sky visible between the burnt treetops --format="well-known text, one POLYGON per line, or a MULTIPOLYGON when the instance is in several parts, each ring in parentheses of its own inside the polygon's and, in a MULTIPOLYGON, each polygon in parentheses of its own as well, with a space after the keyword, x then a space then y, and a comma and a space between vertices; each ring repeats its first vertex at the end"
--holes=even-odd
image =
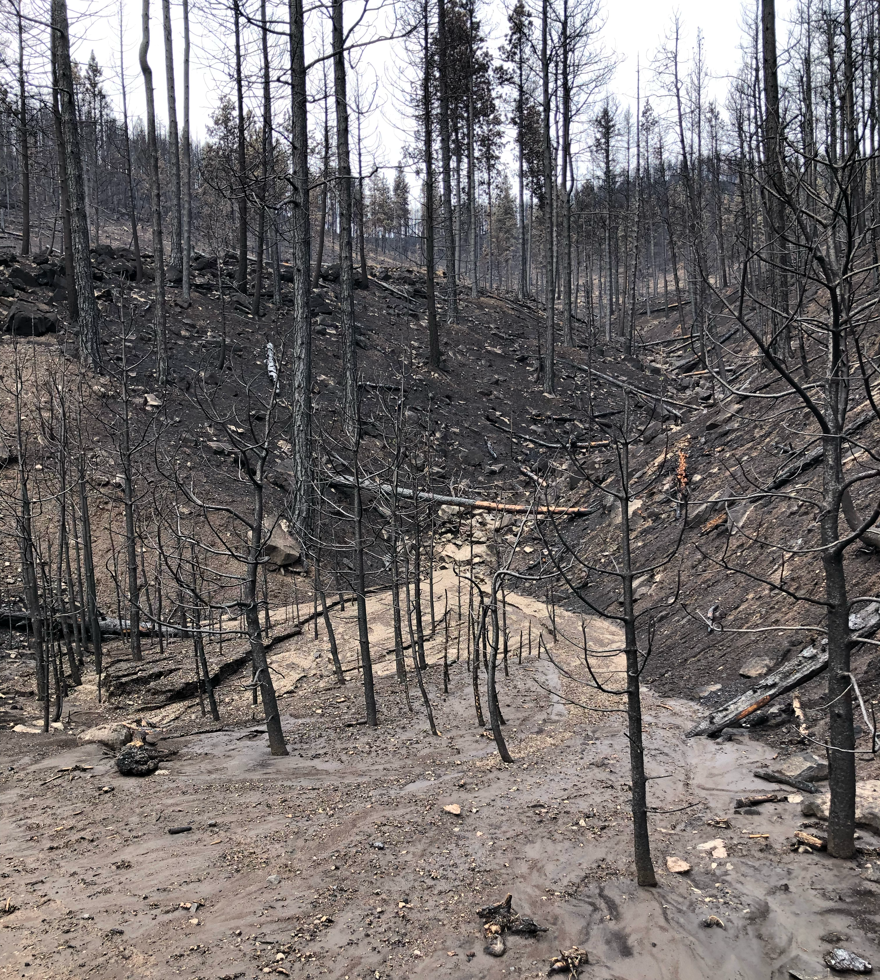
MULTIPOLYGON (((26 2, 26 0, 25 0, 26 2)), ((41 5, 45 0, 33 0, 41 5)), ((93 49, 104 68, 105 87, 114 102, 121 108, 119 92, 119 11, 120 0, 68 0, 72 25, 73 57, 84 64, 93 49)), ((393 0, 391 0, 393 2, 393 0)), ((372 0, 377 4, 378 0, 372 0)), ((258 0, 243 0, 245 8, 257 16, 258 0)), ((167 119, 167 95, 165 84, 165 53, 162 36, 162 8, 160 0, 151 0, 151 44, 149 59, 153 69, 156 107, 160 122, 167 119)), ((308 7, 308 0, 307 0, 308 7)), ((777 32, 784 43, 787 30, 785 17, 794 7, 794 0, 782 0, 777 5, 780 21, 777 32)), ((276 4, 269 0, 269 17, 272 9, 278 16, 286 13, 286 0, 276 4)), ((347 16, 353 17, 360 9, 354 2, 347 5, 347 16), (349 13, 350 12, 350 13, 349 13)), ((389 8, 393 9, 393 8, 389 8)), ((178 100, 178 123, 181 119, 182 49, 183 31, 179 0, 172 0, 174 60, 178 100)), ((650 94, 652 79, 647 70, 651 58, 668 31, 673 14, 677 12, 683 26, 682 55, 688 57, 696 42, 698 28, 703 33, 706 62, 709 72, 717 79, 715 93, 723 99, 725 76, 735 73, 740 63, 740 43, 743 38, 743 8, 738 2, 708 4, 705 0, 679 0, 675 6, 666 6, 653 0, 606 0, 607 23, 601 34, 601 42, 619 59, 619 66, 611 83, 611 89, 624 103, 635 96, 636 62, 642 65, 642 95, 650 94)), ((34 11, 34 16, 38 12, 34 11)), ((320 12, 311 15, 313 33, 318 30, 320 12)), ((386 16, 386 15, 381 15, 386 16)), ((503 40, 506 31, 505 7, 501 0, 486 3, 480 11, 484 29, 489 33, 493 46, 503 40)), ((143 114, 144 94, 141 74, 137 63, 140 43, 141 0, 122 0, 123 44, 125 76, 128 90, 129 114, 143 114)), ((228 67, 224 62, 231 58, 231 15, 222 0, 190 0, 192 43, 191 65, 191 125, 194 136, 204 136, 210 122, 212 109, 217 105, 220 93, 231 92, 228 67), (225 56, 221 52, 227 52, 225 56)), ((34 28, 39 34, 39 28, 34 28)), ((256 31, 251 31, 256 38, 256 31)), ((34 38, 34 43, 38 38, 34 38)), ((251 42, 256 44, 256 40, 251 42)), ((256 50, 254 52, 257 54, 256 50)), ((286 56, 285 56, 286 57, 286 56)), ((394 80, 401 51, 395 43, 382 43, 368 48, 365 62, 370 66, 365 76, 378 79, 377 102, 383 107, 374 114, 370 127, 374 130, 367 145, 376 150, 378 163, 393 165, 402 147, 412 138, 412 126, 395 110, 394 80)), ((315 70, 319 73, 319 69, 315 70)), ((367 87, 372 84, 368 81, 367 87)), ((351 95, 350 83, 350 95, 351 95)), ((287 96, 281 86, 276 86, 278 100, 276 114, 287 107, 287 96)), ((255 98, 257 93, 255 93, 255 98)), ((255 103, 256 108, 256 103, 255 103)), ((316 112, 319 110, 317 109, 316 112)), ((322 110, 320 110, 322 111, 322 110)))

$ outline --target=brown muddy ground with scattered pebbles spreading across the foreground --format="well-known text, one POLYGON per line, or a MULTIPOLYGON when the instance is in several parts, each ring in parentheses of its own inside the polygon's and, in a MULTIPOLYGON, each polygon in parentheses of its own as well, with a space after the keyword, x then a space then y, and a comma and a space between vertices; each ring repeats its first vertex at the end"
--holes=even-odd
MULTIPOLYGON (((438 606, 449 574, 435 582, 438 606)), ((388 597, 369 602, 381 651, 388 597)), ((351 606, 335 615, 349 668, 353 616, 351 606)), ((625 719, 615 698, 580 683, 582 655, 564 639, 579 640, 580 620, 560 610, 554 641, 543 604, 512 596, 508 616, 510 675, 500 668, 499 690, 511 765, 476 724, 464 636, 456 662, 455 610, 448 695, 444 630, 428 644, 438 737, 412 669, 413 713, 390 659, 376 669, 379 727, 358 724, 357 672, 335 683, 322 626, 317 641, 309 629, 272 651, 286 758, 269 756, 245 674, 220 686, 220 725, 193 701, 153 713, 99 706, 88 675, 63 728, 0 732, 0 976, 534 977, 574 945, 589 954, 581 976, 597 980, 819 977, 833 946, 877 961, 880 885, 863 877, 870 856, 793 853, 807 819, 797 802, 734 814, 734 797, 774 789, 752 772, 777 749, 745 732, 725 744, 687 739, 697 706, 650 691, 660 885, 638 888, 625 719), (520 663, 529 623, 532 652, 525 643, 520 663), (536 656, 542 631, 559 667, 536 656), (108 718, 152 722, 171 757, 150 776, 122 777, 112 753, 76 742, 108 718), (192 829, 169 833, 181 825, 192 829), (717 844, 700 850, 718 840, 725 857, 717 844), (668 873, 670 856, 690 872, 668 873), (507 893, 547 931, 508 937, 494 958, 476 909, 507 893), (723 928, 704 925, 709 915, 723 928)), ((602 620, 588 620, 587 635, 594 650, 617 642, 602 620)), ((594 665, 613 684, 619 660, 594 665)), ((480 687, 485 699, 482 670, 480 687)), ((862 831, 859 843, 880 840, 862 831)))

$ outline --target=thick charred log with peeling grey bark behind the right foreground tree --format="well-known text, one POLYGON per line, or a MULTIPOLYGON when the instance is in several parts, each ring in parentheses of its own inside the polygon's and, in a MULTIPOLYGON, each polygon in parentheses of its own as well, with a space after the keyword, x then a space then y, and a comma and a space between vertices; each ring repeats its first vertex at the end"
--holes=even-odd
MULTIPOLYGON (((850 628, 853 630, 854 646, 859 638, 871 636, 880 626, 880 604, 871 603, 859 613, 851 613, 850 628)), ((723 729, 742 723, 750 715, 766 708, 775 698, 793 691, 818 676, 828 666, 828 651, 824 645, 811 645, 802 650, 797 657, 783 663, 778 670, 763 677, 755 687, 749 688, 726 705, 701 719, 688 732, 688 735, 720 735, 723 729)))

